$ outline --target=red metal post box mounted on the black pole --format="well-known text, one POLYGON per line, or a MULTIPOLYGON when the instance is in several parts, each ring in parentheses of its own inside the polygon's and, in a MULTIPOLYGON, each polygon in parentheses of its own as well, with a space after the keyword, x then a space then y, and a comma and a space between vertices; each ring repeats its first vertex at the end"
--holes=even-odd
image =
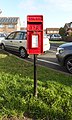
POLYGON ((27 16, 27 53, 43 53, 43 16, 27 16))

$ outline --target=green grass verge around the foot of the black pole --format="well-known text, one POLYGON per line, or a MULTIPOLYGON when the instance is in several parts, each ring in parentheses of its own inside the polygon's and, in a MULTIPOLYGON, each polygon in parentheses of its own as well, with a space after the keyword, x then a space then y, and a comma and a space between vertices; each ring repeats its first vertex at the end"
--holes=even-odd
POLYGON ((0 118, 72 120, 72 76, 37 66, 38 96, 33 96, 33 64, 0 51, 0 118))

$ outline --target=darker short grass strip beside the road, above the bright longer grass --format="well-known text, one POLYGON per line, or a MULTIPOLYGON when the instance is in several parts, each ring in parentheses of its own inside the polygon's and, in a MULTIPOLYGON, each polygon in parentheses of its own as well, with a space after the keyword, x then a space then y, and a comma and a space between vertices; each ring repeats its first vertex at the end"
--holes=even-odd
MULTIPOLYGON (((0 72, 34 79, 34 66, 5 51, 0 51, 0 72)), ((56 72, 46 67, 37 66, 37 79, 42 82, 55 81, 66 86, 72 85, 72 76, 56 72)))

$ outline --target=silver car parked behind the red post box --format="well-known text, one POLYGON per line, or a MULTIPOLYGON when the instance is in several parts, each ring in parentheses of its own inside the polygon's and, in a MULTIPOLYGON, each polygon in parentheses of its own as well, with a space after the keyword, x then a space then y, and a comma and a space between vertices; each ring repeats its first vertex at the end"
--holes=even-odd
MULTIPOLYGON (((27 31, 14 31, 11 32, 5 39, 1 42, 1 48, 11 50, 14 52, 19 52, 20 56, 23 58, 28 57, 27 54, 27 31)), ((49 39, 43 37, 43 51, 50 49, 49 39)))

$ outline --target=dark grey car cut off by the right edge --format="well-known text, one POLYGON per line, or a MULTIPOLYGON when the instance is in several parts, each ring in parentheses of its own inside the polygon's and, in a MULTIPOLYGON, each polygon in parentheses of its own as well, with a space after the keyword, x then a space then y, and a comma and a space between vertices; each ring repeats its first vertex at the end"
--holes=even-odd
POLYGON ((60 45, 56 57, 58 62, 72 74, 72 42, 60 45))

